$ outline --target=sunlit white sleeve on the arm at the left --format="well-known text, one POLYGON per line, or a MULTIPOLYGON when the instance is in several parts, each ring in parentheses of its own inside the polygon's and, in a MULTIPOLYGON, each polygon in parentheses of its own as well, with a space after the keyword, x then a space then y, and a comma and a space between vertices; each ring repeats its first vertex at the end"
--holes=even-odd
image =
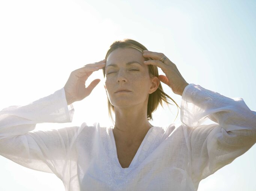
POLYGON ((79 127, 32 131, 36 123, 72 122, 64 88, 25 106, 0 111, 0 155, 22 166, 63 176, 79 127))

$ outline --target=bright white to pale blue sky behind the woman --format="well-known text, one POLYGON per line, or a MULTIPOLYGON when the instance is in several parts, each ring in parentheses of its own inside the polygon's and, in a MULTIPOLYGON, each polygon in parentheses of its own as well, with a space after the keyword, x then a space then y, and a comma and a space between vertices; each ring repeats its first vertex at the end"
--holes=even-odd
MULTIPOLYGON (((0 1, 0 110, 25 105, 64 87, 70 72, 104 59, 115 40, 132 38, 162 52, 188 83, 226 97, 242 97, 256 110, 256 1, 0 1), (192 3, 193 2, 193 3, 192 3)), ((159 73, 163 74, 161 69, 159 73)), ((73 103, 72 123, 36 129, 112 125, 102 70, 90 96, 73 103)), ((163 84, 180 105, 181 96, 163 84)), ((174 122, 177 107, 161 107, 152 125, 174 122)), ((180 112, 175 122, 180 121, 180 112)), ((207 123, 212 123, 210 120, 207 123)), ((255 191, 256 146, 202 180, 198 191, 255 191)), ((31 170, 0 156, 0 190, 64 190, 54 174, 31 170)))

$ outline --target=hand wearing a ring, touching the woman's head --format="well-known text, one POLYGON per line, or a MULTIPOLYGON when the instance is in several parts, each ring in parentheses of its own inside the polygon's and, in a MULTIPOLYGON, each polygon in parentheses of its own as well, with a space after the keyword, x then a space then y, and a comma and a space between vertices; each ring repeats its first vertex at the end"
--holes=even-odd
POLYGON ((181 95, 187 85, 186 80, 181 76, 177 66, 171 62, 168 58, 165 59, 164 63, 160 60, 166 57, 163 53, 152 52, 148 50, 143 51, 145 58, 151 58, 154 60, 147 60, 144 63, 147 65, 155 65, 162 69, 165 75, 159 75, 158 79, 163 83, 167 84, 175 94, 181 95))

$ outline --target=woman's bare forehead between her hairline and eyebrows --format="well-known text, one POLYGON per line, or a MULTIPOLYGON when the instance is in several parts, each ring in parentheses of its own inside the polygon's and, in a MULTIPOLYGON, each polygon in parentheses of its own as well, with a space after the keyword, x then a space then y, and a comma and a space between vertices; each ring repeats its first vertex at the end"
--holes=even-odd
POLYGON ((106 59, 106 66, 115 62, 129 61, 143 62, 144 57, 142 56, 142 53, 135 48, 117 48, 108 55, 106 59))

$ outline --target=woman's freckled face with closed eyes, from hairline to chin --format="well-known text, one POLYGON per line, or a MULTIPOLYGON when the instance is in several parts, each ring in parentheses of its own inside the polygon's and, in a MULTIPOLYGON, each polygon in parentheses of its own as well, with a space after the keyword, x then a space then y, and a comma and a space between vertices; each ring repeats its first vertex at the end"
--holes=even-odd
MULTIPOLYGON (((117 48, 106 59, 105 89, 114 107, 130 107, 137 104, 147 106, 148 95, 157 87, 152 84, 148 66, 142 53, 134 48, 117 48), (115 93, 118 89, 129 92, 115 93)), ((156 79, 154 79, 156 81, 156 79)), ((158 81, 158 78, 157 78, 158 81)))

